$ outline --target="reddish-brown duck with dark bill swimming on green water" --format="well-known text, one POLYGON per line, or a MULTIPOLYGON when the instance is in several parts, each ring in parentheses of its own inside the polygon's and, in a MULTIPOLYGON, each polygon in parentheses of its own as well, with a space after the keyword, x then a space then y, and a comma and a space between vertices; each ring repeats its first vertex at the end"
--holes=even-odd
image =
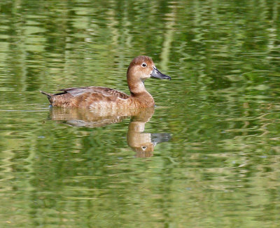
POLYGON ((155 106, 153 96, 145 88, 147 78, 171 80, 171 77, 161 73, 148 56, 135 57, 127 69, 127 85, 130 95, 108 87, 89 86, 62 89, 57 94, 45 94, 50 106, 62 108, 90 108, 93 110, 116 108, 148 108, 155 106))

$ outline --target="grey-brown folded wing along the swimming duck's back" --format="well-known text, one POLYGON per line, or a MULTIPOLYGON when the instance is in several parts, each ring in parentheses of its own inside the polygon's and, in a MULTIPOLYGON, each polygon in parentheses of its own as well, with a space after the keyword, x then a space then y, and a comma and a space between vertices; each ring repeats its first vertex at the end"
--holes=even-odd
POLYGON ((107 87, 97 87, 97 86, 89 86, 89 87, 78 87, 78 88, 67 88, 62 89, 59 91, 63 91, 59 94, 55 95, 61 95, 61 94, 71 94, 73 97, 78 97, 85 93, 97 93, 105 97, 119 97, 121 99, 127 99, 129 96, 125 94, 124 92, 120 92, 118 90, 113 90, 107 87))

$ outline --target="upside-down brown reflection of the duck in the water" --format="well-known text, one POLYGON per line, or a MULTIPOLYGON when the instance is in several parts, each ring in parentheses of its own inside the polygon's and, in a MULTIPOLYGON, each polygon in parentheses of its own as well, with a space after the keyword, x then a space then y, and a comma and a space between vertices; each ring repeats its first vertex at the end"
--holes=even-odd
POLYGON ((114 113, 94 113, 88 109, 81 108, 50 108, 50 119, 64 122, 74 127, 104 127, 108 124, 122 122, 131 117, 127 131, 127 144, 137 154, 137 157, 152 157, 155 145, 167 142, 170 134, 151 134, 144 132, 145 124, 155 111, 154 107, 134 111, 120 111, 114 113))

